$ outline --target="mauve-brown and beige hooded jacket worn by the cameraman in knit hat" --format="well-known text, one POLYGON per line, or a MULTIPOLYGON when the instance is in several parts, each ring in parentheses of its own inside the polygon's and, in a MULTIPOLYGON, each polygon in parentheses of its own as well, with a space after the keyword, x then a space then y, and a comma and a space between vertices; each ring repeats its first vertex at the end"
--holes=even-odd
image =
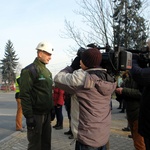
POLYGON ((71 129, 74 138, 92 147, 108 142, 111 125, 110 100, 116 82, 103 69, 73 72, 66 67, 54 78, 56 86, 72 94, 71 129))

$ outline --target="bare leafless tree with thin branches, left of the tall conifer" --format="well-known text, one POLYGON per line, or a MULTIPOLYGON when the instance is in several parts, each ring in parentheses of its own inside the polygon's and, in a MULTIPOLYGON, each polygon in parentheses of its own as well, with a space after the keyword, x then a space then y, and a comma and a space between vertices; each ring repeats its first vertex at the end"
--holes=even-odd
POLYGON ((75 13, 82 17, 82 25, 78 28, 65 20, 66 32, 63 36, 73 39, 78 46, 86 46, 91 42, 102 46, 112 43, 112 1, 81 0, 78 5, 81 11, 75 11, 75 13))

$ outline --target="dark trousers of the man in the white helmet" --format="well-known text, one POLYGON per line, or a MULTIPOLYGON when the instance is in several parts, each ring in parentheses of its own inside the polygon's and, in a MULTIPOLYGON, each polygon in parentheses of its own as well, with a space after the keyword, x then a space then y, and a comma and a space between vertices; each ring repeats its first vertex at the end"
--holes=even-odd
POLYGON ((27 130, 28 150, 51 150, 51 116, 34 115, 36 127, 27 130))

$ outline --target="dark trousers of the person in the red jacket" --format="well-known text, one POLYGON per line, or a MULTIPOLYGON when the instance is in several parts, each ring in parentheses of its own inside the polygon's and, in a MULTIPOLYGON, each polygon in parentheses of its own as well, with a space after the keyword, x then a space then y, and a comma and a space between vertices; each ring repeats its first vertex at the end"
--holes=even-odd
POLYGON ((63 114, 62 114, 62 106, 55 106, 55 114, 58 126, 63 126, 63 114))

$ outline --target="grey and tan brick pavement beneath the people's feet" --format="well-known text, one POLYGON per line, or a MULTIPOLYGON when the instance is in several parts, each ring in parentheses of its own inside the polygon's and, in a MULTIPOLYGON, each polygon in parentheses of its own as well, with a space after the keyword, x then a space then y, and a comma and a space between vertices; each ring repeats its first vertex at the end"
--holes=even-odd
MULTIPOLYGON (((109 150, 135 150, 133 140, 128 138, 130 132, 122 131, 127 126, 126 113, 119 113, 118 102, 112 100, 112 124, 109 139, 109 150)), ((68 118, 64 117, 64 128, 55 130, 52 128, 52 150, 74 150, 75 142, 68 139, 64 132, 68 131, 68 118)), ((55 120, 52 125, 55 124, 55 120)), ((28 145, 27 132, 16 131, 0 141, 0 150, 26 150, 28 145)))

